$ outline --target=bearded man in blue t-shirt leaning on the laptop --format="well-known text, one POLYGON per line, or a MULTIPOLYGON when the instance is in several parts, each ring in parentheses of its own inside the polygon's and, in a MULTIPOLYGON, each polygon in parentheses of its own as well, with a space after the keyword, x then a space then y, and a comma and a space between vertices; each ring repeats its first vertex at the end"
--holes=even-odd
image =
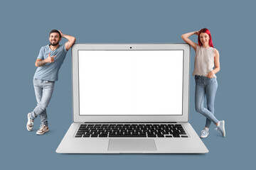
POLYGON ((36 73, 33 77, 33 86, 36 94, 37 106, 31 113, 28 113, 26 128, 33 129, 33 121, 38 115, 41 119, 41 127, 36 132, 43 135, 49 131, 46 108, 53 94, 55 81, 58 81, 58 71, 65 60, 65 56, 75 43, 75 38, 65 35, 60 30, 51 30, 49 35, 50 44, 41 47, 36 60, 36 73), (65 45, 59 45, 61 38, 66 38, 65 45))

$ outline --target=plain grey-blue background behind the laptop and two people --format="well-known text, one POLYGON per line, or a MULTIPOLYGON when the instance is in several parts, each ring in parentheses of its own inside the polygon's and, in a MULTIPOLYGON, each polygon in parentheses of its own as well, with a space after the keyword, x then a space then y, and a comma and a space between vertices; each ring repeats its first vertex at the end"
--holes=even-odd
MULTIPOLYGON (((4 169, 248 169, 255 161, 255 3, 253 1, 1 1, 1 167, 4 169), (181 35, 209 28, 220 52, 215 115, 227 135, 210 128, 208 154, 57 154, 72 123, 71 53, 67 54, 48 106, 50 131, 26 130, 36 106, 35 61, 52 29, 77 42, 183 42, 181 35)), ((196 36, 191 37, 196 41, 196 36)), ((65 38, 62 44, 66 42, 65 38)), ((191 49, 191 72, 195 53, 191 49)), ((200 133, 205 118, 194 109, 200 133)))

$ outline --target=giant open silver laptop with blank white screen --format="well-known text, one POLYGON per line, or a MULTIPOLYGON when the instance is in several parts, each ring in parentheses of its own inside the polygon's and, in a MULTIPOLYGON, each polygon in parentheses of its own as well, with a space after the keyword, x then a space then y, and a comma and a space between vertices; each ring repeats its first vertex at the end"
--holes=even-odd
POLYGON ((73 154, 189 154, 208 149, 188 123, 190 46, 75 44, 73 154))

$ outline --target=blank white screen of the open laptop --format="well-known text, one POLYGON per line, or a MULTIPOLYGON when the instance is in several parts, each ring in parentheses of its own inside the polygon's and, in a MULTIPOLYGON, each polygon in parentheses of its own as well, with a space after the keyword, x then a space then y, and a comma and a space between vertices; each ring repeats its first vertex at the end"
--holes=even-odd
POLYGON ((183 50, 79 50, 80 115, 182 115, 183 50))

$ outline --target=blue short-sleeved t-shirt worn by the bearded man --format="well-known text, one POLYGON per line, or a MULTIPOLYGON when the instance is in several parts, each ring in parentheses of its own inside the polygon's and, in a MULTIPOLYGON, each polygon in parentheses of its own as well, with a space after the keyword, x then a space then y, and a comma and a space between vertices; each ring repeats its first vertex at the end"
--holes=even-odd
POLYGON ((33 77, 34 79, 43 79, 48 81, 58 80, 58 71, 61 64, 63 64, 67 50, 65 49, 65 45, 60 45, 56 50, 52 51, 50 50, 49 45, 46 45, 41 47, 37 58, 45 60, 48 57, 49 52, 50 56, 56 56, 54 62, 46 63, 44 66, 38 67, 33 77))

